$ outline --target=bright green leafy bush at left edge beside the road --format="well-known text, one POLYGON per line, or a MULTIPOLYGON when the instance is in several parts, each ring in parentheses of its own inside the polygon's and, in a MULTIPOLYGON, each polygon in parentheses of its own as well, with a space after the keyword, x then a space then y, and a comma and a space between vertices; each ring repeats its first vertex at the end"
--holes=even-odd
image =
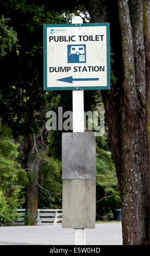
POLYGON ((10 223, 18 216, 16 209, 24 203, 18 174, 26 176, 17 162, 18 144, 11 139, 11 131, 0 126, 0 223, 10 223))

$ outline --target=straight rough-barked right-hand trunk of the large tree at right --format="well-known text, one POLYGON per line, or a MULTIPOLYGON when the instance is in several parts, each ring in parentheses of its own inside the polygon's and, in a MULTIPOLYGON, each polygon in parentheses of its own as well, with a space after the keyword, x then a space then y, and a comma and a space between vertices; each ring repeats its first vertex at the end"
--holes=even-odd
POLYGON ((148 186, 145 137, 146 76, 142 0, 118 0, 124 80, 122 112, 123 244, 148 240, 148 186))

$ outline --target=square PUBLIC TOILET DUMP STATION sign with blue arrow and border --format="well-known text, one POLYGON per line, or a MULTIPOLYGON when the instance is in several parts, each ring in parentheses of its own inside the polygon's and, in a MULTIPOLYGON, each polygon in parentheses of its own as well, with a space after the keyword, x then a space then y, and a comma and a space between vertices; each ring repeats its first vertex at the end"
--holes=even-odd
POLYGON ((110 89, 109 23, 44 25, 44 90, 110 89))

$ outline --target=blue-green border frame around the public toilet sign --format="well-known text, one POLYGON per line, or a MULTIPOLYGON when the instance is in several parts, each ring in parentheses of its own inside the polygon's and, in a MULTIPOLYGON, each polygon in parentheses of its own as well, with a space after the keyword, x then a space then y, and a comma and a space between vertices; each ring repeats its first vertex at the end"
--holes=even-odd
MULTIPOLYGON (((110 32, 109 23, 45 24, 43 25, 44 90, 109 90, 110 89, 110 32), (49 27, 107 27, 107 86, 47 87, 47 28, 49 27)), ((67 84, 68 85, 68 84, 67 84)))

